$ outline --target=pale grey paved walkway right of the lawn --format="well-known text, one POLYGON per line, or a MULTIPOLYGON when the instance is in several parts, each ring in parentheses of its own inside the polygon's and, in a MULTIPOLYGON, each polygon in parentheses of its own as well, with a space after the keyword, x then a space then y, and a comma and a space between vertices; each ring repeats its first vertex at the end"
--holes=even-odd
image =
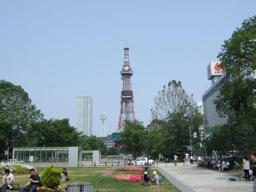
POLYGON ((183 163, 178 163, 174 167, 173 163, 167 163, 167 166, 159 163, 157 169, 182 192, 252 192, 253 181, 239 181, 228 172, 200 168, 197 164, 183 166, 183 163), (237 181, 230 181, 230 178, 237 181))

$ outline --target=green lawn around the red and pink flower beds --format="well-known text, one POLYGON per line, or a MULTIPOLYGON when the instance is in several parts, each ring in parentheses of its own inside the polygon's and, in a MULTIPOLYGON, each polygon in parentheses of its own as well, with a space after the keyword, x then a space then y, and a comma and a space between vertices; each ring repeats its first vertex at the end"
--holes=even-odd
MULTIPOLYGON (((69 173, 69 181, 61 182, 61 187, 66 187, 67 184, 73 182, 93 182, 94 191, 96 189, 100 190, 100 192, 104 191, 154 191, 154 192, 176 192, 179 191, 176 187, 172 187, 173 185, 168 182, 168 180, 163 177, 163 182, 160 185, 151 185, 151 186, 142 186, 141 182, 126 182, 126 181, 114 181, 114 179, 103 179, 101 178, 101 174, 106 171, 115 170, 115 168, 67 168, 67 172, 69 173)), ((39 168, 38 173, 40 174, 43 169, 39 168)), ((150 173, 153 173, 154 169, 150 168, 150 173)), ((124 172, 122 172, 124 173, 124 172)), ((158 172, 159 173, 159 172, 158 172)), ((160 174, 159 174, 160 175, 160 174)), ((20 184, 22 187, 26 182, 28 182, 29 175, 26 176, 15 176, 14 179, 16 183, 20 184)))

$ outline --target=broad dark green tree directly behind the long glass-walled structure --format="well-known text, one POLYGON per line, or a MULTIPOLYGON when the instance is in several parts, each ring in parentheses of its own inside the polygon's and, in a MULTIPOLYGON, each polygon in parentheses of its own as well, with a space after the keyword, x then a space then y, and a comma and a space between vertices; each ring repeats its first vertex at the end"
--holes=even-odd
POLYGON ((70 126, 69 119, 36 122, 26 134, 29 146, 78 146, 80 133, 70 126))

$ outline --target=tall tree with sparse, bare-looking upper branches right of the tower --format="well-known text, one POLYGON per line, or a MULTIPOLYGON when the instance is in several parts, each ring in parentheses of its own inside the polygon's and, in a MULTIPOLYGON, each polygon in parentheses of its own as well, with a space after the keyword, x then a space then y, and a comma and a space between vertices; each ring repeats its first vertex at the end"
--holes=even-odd
MULTIPOLYGON (((152 155, 156 157, 156 152, 159 152, 168 158, 172 158, 173 154, 183 156, 190 145, 189 128, 192 133, 197 132, 199 135, 198 128, 203 124, 203 116, 195 104, 193 95, 186 93, 180 81, 172 80, 159 91, 154 103, 155 107, 151 109, 153 121, 150 130, 152 135, 158 134, 157 140, 152 140, 156 137, 150 137, 152 155)), ((195 139, 196 142, 199 140, 195 139)))

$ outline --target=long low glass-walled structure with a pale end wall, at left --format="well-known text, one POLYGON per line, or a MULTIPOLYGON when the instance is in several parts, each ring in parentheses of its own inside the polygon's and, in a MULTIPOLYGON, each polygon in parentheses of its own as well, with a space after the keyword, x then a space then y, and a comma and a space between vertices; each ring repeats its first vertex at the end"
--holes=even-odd
POLYGON ((13 159, 17 163, 33 164, 34 166, 78 166, 82 159, 79 147, 30 147, 13 148, 13 159))

